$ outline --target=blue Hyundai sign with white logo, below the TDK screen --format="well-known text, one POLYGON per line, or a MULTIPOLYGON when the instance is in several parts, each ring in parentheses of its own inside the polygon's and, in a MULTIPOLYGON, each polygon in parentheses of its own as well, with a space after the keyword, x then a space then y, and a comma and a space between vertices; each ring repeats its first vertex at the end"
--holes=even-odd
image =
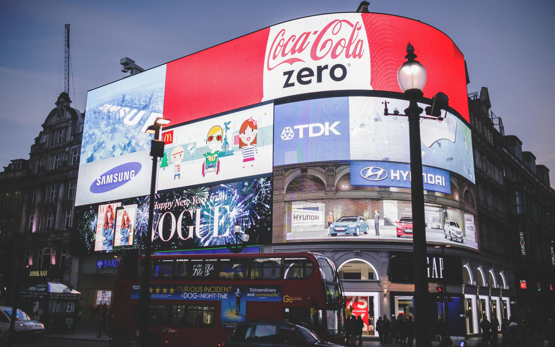
MULTIPOLYGON (((449 172, 422 166, 424 189, 451 194, 449 172)), ((387 161, 351 162, 351 185, 372 187, 411 187, 410 164, 387 161)))

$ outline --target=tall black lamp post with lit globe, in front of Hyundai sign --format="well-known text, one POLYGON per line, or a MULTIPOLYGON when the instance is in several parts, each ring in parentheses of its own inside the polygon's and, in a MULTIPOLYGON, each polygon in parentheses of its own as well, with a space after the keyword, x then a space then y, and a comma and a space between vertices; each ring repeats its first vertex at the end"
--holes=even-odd
POLYGON ((441 108, 447 106, 447 96, 437 93, 432 98, 431 107, 426 107, 426 115, 421 116, 422 108, 418 106, 418 101, 423 100, 422 89, 426 85, 426 69, 415 60, 416 54, 412 44, 407 45, 407 61, 401 65, 397 72, 397 80, 403 91, 403 95, 408 99, 409 105, 402 115, 398 111, 389 113, 387 101, 385 101, 384 115, 406 116, 408 118, 408 132, 410 143, 411 159, 411 201, 412 201, 412 246, 415 274, 415 291, 413 308, 415 312, 415 338, 417 347, 431 346, 431 324, 428 315, 428 305, 430 303, 428 293, 428 280, 426 274, 426 228, 424 220, 424 185, 422 180, 422 154, 420 145, 420 118, 434 119, 441 121, 441 108))

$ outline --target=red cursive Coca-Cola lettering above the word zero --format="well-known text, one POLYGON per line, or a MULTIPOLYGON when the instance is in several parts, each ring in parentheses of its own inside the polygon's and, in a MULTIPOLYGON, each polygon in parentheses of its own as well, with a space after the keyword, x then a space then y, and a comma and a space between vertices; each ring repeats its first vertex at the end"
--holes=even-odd
POLYGON ((331 59, 340 56, 360 59, 364 54, 364 41, 359 38, 361 29, 362 23, 352 23, 347 19, 334 19, 321 30, 302 32, 299 36, 281 29, 268 50, 266 68, 271 71, 281 64, 305 62, 299 55, 306 49, 309 49, 313 61, 327 56, 331 59))

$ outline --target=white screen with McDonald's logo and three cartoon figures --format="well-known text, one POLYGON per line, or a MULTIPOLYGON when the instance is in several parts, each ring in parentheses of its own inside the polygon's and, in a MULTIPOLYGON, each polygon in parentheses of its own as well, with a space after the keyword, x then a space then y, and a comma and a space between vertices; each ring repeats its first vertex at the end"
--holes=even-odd
POLYGON ((158 189, 206 185, 270 174, 274 153, 274 104, 210 117, 162 133, 158 189))

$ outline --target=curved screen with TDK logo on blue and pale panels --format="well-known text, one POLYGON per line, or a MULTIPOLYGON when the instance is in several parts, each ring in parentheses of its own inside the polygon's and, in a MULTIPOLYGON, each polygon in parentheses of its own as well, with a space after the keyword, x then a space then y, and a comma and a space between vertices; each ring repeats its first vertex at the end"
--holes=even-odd
MULTIPOLYGON (((406 117, 384 116, 384 101, 332 97, 276 105, 274 166, 332 160, 410 163, 406 117)), ((408 107, 405 100, 387 101, 391 111, 408 107)), ((447 113, 441 122, 422 120, 420 130, 423 165, 475 182, 472 136, 463 121, 447 113)))

